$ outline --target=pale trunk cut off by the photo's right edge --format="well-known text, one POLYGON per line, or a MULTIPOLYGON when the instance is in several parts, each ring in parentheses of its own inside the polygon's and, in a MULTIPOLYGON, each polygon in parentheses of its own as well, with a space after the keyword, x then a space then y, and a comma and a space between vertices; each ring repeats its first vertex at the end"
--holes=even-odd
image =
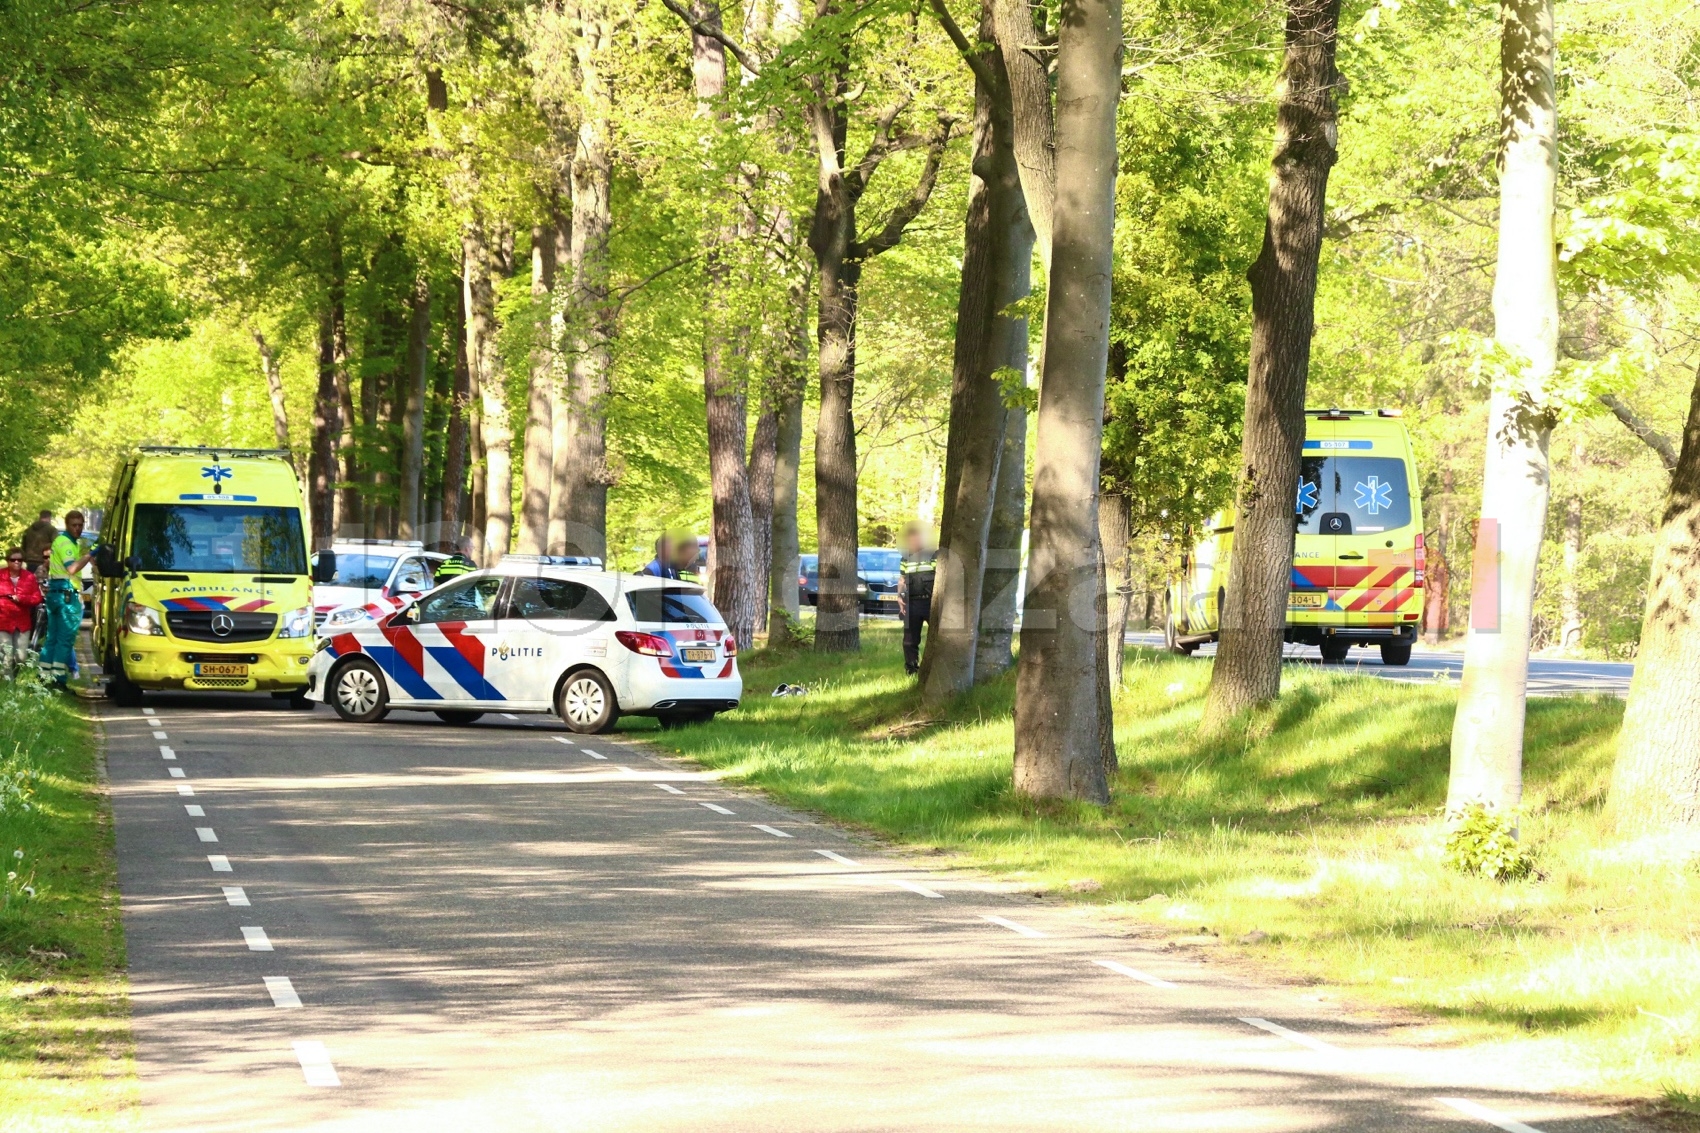
POLYGON ((1671 473, 1640 652, 1612 769, 1610 813, 1624 834, 1700 827, 1700 374, 1671 473))

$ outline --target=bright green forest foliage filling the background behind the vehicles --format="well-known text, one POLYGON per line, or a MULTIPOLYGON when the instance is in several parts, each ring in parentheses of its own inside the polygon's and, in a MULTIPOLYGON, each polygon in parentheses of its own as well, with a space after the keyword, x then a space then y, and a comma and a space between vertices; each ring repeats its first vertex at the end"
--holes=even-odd
MULTIPOLYGON (((814 311, 808 233, 748 216, 808 216, 816 170, 799 92, 838 58, 852 78, 853 153, 879 141, 881 109, 901 105, 898 145, 869 179, 864 230, 925 180, 921 133, 935 119, 957 122, 925 208, 865 264, 855 335, 862 541, 891 544, 910 519, 935 519, 969 70, 925 3, 801 12, 756 0, 721 19, 777 63, 760 75, 734 63, 733 88, 706 102, 692 36, 672 9, 7 5, 0 509, 10 524, 20 529, 41 507, 99 505, 131 444, 269 447, 282 420, 306 458, 333 369, 345 383, 335 441, 355 470, 343 522, 393 534, 406 475, 401 390, 410 366, 423 366, 418 507, 440 515, 454 498, 462 521, 473 515, 486 468, 468 417, 505 403, 517 529, 534 374, 573 366, 551 347, 595 339, 607 381, 607 458, 595 475, 609 488, 609 558, 631 568, 663 529, 707 532, 704 342, 714 308, 704 296, 711 286, 731 296, 756 328, 740 366, 745 424, 758 434, 767 395, 787 374, 813 374, 818 359, 813 325, 790 333, 799 311, 814 311), (586 112, 607 128, 607 264, 588 328, 573 322, 568 288, 549 281, 551 270, 566 279, 566 260, 546 267, 554 231, 571 228, 556 187, 563 168, 585 168, 586 112), (469 255, 490 286, 483 322, 464 299, 469 255), (469 328, 488 366, 481 403, 468 400, 469 328)), ((1586 250, 1663 238, 1647 204, 1658 185, 1647 184, 1681 184, 1686 172, 1700 12, 1567 0, 1557 15, 1559 236, 1578 252, 1561 257, 1561 352, 1610 393, 1556 432, 1535 646, 1632 657, 1668 487, 1656 442, 1681 429, 1700 298, 1681 281, 1692 265, 1661 260, 1637 274, 1639 260, 1624 257, 1622 272, 1601 272, 1586 250)), ((955 19, 974 24, 967 9, 955 19)), ((1232 493, 1244 272, 1263 231, 1282 19, 1278 5, 1236 0, 1124 9, 1105 473, 1134 502, 1139 585, 1151 592, 1173 541, 1232 493)), ((1348 85, 1309 401, 1404 410, 1430 555, 1462 582, 1481 488, 1477 344, 1493 330, 1498 5, 1348 3, 1341 29, 1348 85)), ((1042 303, 1025 310, 1037 356, 1042 303)), ((1030 400, 1018 376, 1008 384, 1012 403, 1030 400)), ((804 398, 797 527, 808 551, 813 381, 804 398)), ((1462 585, 1448 606, 1457 624, 1462 585)))

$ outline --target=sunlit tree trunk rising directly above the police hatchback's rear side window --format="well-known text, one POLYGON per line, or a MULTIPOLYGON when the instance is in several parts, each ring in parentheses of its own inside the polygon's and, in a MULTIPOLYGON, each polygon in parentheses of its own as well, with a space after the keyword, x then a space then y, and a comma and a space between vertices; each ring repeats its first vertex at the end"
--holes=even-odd
POLYGON ((573 366, 568 378, 566 507, 563 549, 607 558, 607 398, 614 305, 609 294, 609 231, 614 225, 614 83, 605 66, 612 14, 602 0, 581 9, 575 48, 581 117, 573 157, 573 366))

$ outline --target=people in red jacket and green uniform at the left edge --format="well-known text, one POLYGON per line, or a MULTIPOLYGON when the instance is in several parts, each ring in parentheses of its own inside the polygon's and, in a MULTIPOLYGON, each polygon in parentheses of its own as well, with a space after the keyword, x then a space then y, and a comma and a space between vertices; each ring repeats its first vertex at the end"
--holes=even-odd
POLYGON ((92 555, 94 546, 83 539, 83 514, 66 512, 61 531, 48 510, 7 551, 0 570, 0 669, 7 680, 31 652, 37 611, 46 612, 42 675, 60 689, 75 675, 76 631, 83 624, 82 572, 92 555))

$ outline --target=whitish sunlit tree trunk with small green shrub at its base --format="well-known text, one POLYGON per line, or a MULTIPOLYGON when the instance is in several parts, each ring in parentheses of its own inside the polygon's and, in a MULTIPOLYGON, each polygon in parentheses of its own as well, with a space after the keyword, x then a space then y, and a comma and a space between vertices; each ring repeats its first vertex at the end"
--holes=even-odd
MULTIPOLYGON (((1499 7, 1499 262, 1494 339, 1538 390, 1559 357, 1552 209, 1557 185, 1552 0, 1499 7)), ((1547 524, 1552 415, 1501 384, 1488 401, 1482 514, 1470 572, 1470 633, 1452 723, 1447 808, 1506 815, 1523 798, 1523 713, 1535 568, 1547 524), (1498 555, 1493 551, 1498 549, 1498 555)))

